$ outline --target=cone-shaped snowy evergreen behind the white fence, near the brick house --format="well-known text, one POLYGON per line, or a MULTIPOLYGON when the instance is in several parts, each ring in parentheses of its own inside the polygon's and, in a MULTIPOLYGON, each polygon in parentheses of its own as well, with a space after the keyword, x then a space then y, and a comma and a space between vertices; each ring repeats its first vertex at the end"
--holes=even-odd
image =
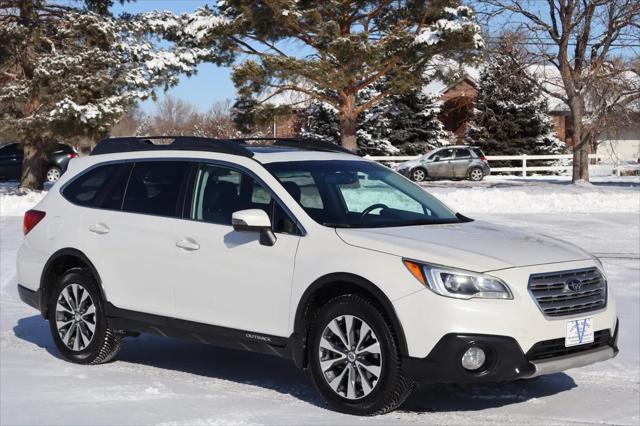
POLYGON ((508 38, 482 69, 467 139, 492 155, 558 154, 564 149, 553 133, 547 98, 527 73, 524 54, 508 38))

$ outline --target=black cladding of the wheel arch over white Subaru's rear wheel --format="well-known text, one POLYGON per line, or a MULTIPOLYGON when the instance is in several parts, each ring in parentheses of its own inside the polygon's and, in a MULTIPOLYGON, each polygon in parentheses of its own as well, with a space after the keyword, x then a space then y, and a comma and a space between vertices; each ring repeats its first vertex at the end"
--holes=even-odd
POLYGON ((40 276, 40 312, 43 318, 47 318, 47 310, 49 309, 47 301, 55 279, 59 279, 65 271, 72 268, 82 268, 88 271, 98 283, 100 295, 106 301, 100 274, 98 274, 97 269, 89 258, 78 249, 63 248, 53 253, 42 269, 42 275, 40 276))

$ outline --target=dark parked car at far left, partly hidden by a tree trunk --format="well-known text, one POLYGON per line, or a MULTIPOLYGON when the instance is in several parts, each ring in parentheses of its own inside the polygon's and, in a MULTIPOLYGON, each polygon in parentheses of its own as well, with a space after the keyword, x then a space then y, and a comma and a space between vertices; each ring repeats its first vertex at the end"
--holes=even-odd
MULTIPOLYGON (((47 161, 42 170, 45 181, 55 182, 60 179, 62 173, 67 170, 69 160, 77 156, 78 153, 69 145, 52 145, 48 150, 47 161)), ((20 144, 12 143, 1 147, 0 179, 20 179, 23 158, 24 153, 20 144)))

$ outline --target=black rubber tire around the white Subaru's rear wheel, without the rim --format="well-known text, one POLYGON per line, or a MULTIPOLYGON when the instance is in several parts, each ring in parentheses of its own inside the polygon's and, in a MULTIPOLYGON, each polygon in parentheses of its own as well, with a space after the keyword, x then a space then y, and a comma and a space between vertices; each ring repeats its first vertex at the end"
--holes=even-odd
MULTIPOLYGON (((83 269, 74 268, 67 271, 60 281, 55 284, 51 297, 49 298, 48 319, 53 341, 62 357, 67 361, 77 364, 107 363, 115 358, 122 346, 124 335, 108 328, 104 315, 104 305, 98 285, 95 279, 83 269), (93 315, 88 314, 89 321, 92 320, 95 324, 93 335, 85 347, 78 348, 76 350, 68 347, 62 340, 60 332, 58 331, 57 319, 65 320, 67 318, 64 317, 63 314, 56 312, 60 294, 72 284, 79 286, 77 287, 78 289, 82 289, 82 292, 78 290, 79 294, 84 294, 83 292, 86 291, 91 302, 93 302, 93 306, 95 307, 95 313, 93 315)), ((71 328, 66 330, 69 332, 71 331, 71 328)), ((71 336, 69 339, 69 342, 79 340, 78 336, 71 336)))

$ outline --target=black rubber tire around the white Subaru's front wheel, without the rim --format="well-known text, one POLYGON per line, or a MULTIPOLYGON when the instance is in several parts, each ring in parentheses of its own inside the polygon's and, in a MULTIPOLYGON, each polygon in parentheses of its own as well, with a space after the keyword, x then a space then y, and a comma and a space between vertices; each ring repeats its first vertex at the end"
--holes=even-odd
MULTIPOLYGON (((382 312, 369 300, 359 295, 348 294, 336 297, 319 309, 311 323, 307 355, 316 388, 329 406, 336 411, 360 416, 384 414, 400 406, 413 390, 413 381, 402 371, 398 339, 393 328, 382 312), (334 391, 328 383, 329 379, 325 378, 320 364, 320 341, 325 327, 342 315, 354 316, 357 317, 356 320, 362 319, 366 322, 375 333, 381 350, 380 377, 373 385, 373 390, 359 399, 349 399, 334 391)), ((362 378, 360 393, 364 394, 362 378)))

